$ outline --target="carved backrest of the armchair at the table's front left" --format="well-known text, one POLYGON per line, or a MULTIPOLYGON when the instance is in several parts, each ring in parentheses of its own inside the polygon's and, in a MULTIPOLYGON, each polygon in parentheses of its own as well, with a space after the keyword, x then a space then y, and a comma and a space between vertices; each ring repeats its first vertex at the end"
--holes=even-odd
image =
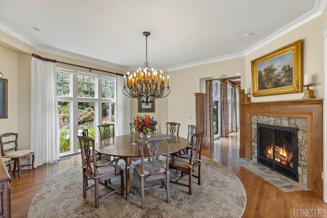
POLYGON ((81 156, 82 156, 82 168, 85 169, 89 174, 97 177, 98 167, 97 158, 92 158, 96 156, 96 151, 94 148, 94 139, 88 138, 86 136, 77 136, 81 145, 81 156), (90 143, 92 144, 90 148, 90 143))

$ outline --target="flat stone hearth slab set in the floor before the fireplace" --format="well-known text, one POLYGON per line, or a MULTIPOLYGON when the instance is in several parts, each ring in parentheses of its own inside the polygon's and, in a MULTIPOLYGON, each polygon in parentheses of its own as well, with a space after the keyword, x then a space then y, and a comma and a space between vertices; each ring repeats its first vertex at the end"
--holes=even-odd
POLYGON ((261 177, 282 191, 290 192, 310 190, 307 186, 287 178, 286 176, 283 176, 282 174, 279 174, 254 160, 250 160, 248 158, 233 158, 232 161, 237 162, 244 168, 248 169, 255 175, 261 177))

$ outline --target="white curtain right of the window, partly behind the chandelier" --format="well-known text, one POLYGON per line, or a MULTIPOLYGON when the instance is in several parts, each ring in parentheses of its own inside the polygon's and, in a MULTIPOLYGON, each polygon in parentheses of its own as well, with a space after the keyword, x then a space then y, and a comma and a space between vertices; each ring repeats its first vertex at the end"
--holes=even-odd
POLYGON ((127 135, 130 133, 129 123, 131 117, 131 99, 123 94, 124 78, 117 76, 116 93, 117 93, 117 104, 116 104, 116 135, 127 135))

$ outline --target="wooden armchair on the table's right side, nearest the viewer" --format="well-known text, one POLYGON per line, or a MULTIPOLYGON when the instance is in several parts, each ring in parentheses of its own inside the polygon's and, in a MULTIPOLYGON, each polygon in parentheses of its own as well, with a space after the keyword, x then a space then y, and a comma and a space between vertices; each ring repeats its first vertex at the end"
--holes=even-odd
POLYGON ((203 132, 199 131, 192 135, 191 138, 191 151, 190 154, 172 154, 172 159, 169 164, 171 169, 181 171, 181 176, 170 182, 173 184, 189 187, 189 194, 192 195, 192 177, 198 178, 198 185, 201 185, 201 152, 202 152, 202 138, 203 132), (192 172, 195 168, 198 168, 198 175, 194 175, 192 172), (188 184, 180 182, 182 178, 189 176, 188 184))

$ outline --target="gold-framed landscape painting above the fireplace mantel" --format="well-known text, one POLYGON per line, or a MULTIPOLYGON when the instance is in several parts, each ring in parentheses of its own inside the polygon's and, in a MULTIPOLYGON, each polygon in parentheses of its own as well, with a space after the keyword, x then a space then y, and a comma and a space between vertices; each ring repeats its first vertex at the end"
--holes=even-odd
POLYGON ((251 61, 252 96, 302 91, 301 40, 251 61))

